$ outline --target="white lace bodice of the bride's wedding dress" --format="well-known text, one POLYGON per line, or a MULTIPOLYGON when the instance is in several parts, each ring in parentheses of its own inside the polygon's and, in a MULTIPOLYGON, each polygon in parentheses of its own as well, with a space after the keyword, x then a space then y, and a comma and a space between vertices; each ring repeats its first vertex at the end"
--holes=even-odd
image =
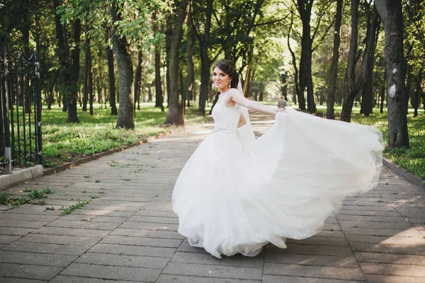
POLYGON ((214 132, 231 131, 237 129, 241 108, 235 103, 232 108, 226 106, 227 93, 222 93, 218 97, 218 101, 212 109, 212 117, 214 118, 214 132))

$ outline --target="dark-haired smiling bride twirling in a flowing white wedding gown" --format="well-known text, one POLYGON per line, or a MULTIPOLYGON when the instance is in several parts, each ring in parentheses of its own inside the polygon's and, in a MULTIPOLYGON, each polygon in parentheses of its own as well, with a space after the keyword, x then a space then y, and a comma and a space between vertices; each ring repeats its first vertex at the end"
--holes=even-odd
POLYGON ((267 243, 318 233, 348 195, 378 184, 382 134, 373 127, 269 108, 237 90, 233 62, 214 65, 220 95, 214 132, 193 153, 174 185, 179 233, 191 246, 254 256, 267 243), (259 139, 246 108, 276 114, 259 139))

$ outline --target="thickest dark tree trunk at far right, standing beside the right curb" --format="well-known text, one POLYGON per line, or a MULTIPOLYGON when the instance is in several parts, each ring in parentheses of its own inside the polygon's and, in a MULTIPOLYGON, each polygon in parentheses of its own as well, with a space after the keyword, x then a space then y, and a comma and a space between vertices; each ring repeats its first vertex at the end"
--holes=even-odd
POLYGON ((375 0, 385 31, 387 69, 388 146, 409 148, 403 53, 403 14, 401 0, 375 0))

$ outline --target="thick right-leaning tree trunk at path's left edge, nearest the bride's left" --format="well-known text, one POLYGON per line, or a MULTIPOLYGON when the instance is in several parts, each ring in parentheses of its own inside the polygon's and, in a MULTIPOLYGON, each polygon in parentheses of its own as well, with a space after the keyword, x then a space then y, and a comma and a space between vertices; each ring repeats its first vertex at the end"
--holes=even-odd
POLYGON ((187 6, 188 0, 180 0, 178 2, 177 15, 170 42, 170 93, 166 125, 184 126, 184 114, 179 103, 179 50, 183 39, 183 23, 186 18, 187 6))

